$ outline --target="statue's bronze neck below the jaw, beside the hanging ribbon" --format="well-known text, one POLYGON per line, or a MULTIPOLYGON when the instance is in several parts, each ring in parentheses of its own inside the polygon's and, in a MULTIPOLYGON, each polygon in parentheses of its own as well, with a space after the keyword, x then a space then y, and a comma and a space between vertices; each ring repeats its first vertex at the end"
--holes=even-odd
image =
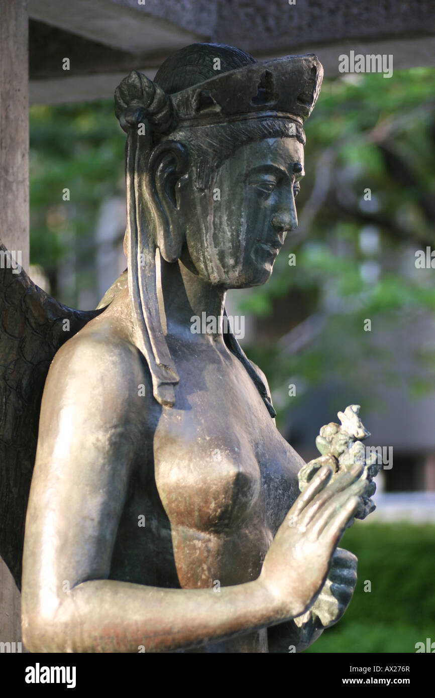
POLYGON ((216 322, 216 332, 211 323, 212 331, 207 332, 206 318, 212 316, 217 320, 223 315, 226 290, 200 279, 181 260, 170 264, 160 256, 158 263, 159 256, 158 253, 156 285, 163 329, 174 336, 187 333, 193 336, 191 328, 195 316, 205 329, 205 339, 221 340, 221 323, 216 322))

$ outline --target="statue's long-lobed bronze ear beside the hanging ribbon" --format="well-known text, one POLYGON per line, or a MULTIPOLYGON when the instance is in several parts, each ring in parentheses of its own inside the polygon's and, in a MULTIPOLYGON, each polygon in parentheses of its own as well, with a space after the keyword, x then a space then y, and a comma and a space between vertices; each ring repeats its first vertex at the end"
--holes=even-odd
POLYGON ((163 259, 175 262, 184 243, 184 224, 179 207, 181 178, 187 172, 186 147, 176 141, 163 141, 149 158, 148 172, 154 199, 156 244, 163 259))

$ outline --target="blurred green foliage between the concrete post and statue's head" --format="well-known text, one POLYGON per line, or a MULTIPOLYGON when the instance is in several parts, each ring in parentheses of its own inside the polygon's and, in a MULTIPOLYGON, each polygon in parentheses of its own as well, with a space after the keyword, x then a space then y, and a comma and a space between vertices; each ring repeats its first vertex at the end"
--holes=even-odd
POLYGON ((45 269, 53 295, 57 265, 71 254, 77 256, 77 288, 86 286, 80 269, 94 253, 98 209, 124 192, 124 144, 110 101, 31 107, 31 262, 45 269), (64 188, 69 201, 63 200, 64 188))

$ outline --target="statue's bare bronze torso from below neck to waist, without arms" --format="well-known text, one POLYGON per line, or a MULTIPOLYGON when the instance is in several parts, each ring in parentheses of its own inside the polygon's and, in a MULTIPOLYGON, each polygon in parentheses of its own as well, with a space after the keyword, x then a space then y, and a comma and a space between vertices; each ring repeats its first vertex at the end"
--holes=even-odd
MULTIPOLYGON (((154 408, 150 419, 147 406, 155 401, 143 398, 143 438, 110 577, 219 593, 258 577, 304 463, 223 343, 176 341, 170 350, 180 376, 177 401, 158 408, 157 417, 154 408)), ((250 633, 209 651, 267 651, 264 640, 264 632, 250 633)))

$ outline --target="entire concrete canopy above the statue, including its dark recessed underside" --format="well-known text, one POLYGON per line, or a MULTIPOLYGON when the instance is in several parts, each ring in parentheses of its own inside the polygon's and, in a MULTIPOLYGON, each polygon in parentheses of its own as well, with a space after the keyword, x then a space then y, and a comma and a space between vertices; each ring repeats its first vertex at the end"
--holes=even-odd
POLYGON ((432 0, 29 0, 28 9, 31 103, 111 97, 129 70, 153 77, 195 41, 258 59, 314 52, 326 75, 350 50, 393 54, 395 69, 435 64, 432 0))

